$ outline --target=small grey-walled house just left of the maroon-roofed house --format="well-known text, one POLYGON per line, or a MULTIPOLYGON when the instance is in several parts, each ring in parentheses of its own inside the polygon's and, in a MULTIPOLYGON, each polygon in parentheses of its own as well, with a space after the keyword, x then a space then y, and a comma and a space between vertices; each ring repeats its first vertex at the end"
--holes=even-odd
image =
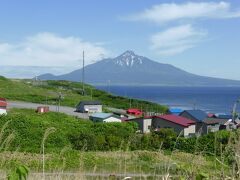
POLYGON ((136 122, 141 133, 149 133, 152 129, 152 117, 140 117, 128 119, 128 122, 136 122))

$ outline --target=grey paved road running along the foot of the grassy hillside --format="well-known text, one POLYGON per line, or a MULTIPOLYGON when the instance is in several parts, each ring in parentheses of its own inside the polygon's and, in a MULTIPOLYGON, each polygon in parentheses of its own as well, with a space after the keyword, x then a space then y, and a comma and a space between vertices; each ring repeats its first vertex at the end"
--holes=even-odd
MULTIPOLYGON (((45 106, 44 104, 37 104, 37 103, 30 103, 30 102, 22 102, 22 101, 8 101, 8 108, 26 108, 26 109, 37 109, 38 106, 45 106)), ((55 105, 48 105, 49 110, 53 112, 58 112, 57 106, 55 105)), ((89 119, 87 113, 77 113, 74 112, 75 108, 67 107, 67 106, 60 106, 59 112, 76 116, 82 119, 89 119)))

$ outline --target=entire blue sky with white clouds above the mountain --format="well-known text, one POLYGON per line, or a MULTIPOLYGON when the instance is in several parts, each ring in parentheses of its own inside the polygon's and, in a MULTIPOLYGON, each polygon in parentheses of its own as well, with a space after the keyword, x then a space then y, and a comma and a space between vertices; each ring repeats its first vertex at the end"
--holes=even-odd
POLYGON ((240 1, 0 1, 4 75, 31 76, 33 66, 66 73, 81 67, 83 50, 87 64, 132 50, 191 73, 240 80, 240 1))

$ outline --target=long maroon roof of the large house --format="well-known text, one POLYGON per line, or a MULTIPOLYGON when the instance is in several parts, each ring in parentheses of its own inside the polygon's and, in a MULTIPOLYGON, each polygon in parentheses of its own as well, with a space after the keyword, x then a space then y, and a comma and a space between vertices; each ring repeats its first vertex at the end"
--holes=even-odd
POLYGON ((155 116, 153 118, 160 118, 164 119, 166 121, 170 121, 172 123, 178 124, 180 126, 188 127, 192 124, 195 124, 194 121, 187 119, 185 117, 173 115, 173 114, 167 114, 167 115, 161 115, 161 116, 155 116))

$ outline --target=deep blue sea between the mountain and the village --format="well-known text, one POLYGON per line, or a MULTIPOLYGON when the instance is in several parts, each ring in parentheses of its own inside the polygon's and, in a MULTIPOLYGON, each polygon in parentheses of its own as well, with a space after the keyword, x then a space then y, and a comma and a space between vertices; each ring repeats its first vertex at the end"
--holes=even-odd
MULTIPOLYGON (((114 95, 138 98, 182 109, 231 113, 240 98, 240 87, 153 87, 97 86, 114 95)), ((238 109, 240 111, 240 107, 238 109)))

